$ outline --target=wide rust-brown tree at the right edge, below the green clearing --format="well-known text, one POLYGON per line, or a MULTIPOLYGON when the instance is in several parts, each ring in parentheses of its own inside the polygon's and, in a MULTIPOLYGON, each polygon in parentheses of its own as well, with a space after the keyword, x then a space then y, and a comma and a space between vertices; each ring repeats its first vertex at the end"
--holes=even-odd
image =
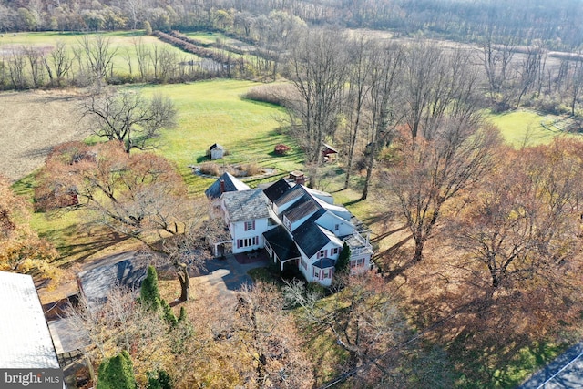
MULTIPOLYGON (((580 248, 583 169, 579 142, 509 151, 460 213, 457 248, 487 270, 492 287, 560 289, 580 248)), ((574 284, 573 284, 574 285, 574 284)))

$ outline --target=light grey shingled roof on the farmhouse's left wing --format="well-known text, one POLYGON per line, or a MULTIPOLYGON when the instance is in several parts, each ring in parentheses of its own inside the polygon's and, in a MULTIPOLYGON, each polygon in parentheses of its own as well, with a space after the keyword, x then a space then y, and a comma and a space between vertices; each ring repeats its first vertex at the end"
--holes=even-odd
POLYGON ((230 221, 269 218, 269 200, 261 189, 225 192, 221 200, 229 213, 230 221))

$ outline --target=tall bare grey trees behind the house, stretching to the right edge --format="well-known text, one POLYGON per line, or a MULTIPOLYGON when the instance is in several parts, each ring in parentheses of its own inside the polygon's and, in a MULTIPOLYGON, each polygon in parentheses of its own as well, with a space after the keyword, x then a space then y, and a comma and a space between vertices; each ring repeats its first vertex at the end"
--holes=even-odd
POLYGON ((343 149, 346 188, 353 169, 365 170, 366 199, 374 166, 392 157, 395 138, 408 134, 415 151, 440 138, 447 152, 466 147, 469 139, 487 143, 476 136, 494 132, 483 120, 484 109, 567 113, 573 119, 567 130, 580 130, 583 78, 577 56, 549 65, 542 47, 517 53, 512 42, 451 46, 313 28, 299 28, 293 36, 281 62, 290 86, 257 87, 248 96, 287 108, 312 185, 322 165, 322 143, 332 142, 343 149))

